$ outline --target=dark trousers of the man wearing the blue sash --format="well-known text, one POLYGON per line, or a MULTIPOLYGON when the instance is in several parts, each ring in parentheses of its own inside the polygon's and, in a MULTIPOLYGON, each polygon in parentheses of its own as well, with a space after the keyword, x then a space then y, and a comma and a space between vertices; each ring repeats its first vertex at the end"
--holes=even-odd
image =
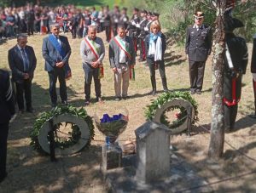
POLYGON ((67 101, 67 86, 65 81, 65 71, 64 67, 55 68, 54 71, 49 71, 49 96, 52 104, 57 104, 57 94, 56 94, 56 82, 59 79, 60 82, 60 95, 61 101, 67 101))

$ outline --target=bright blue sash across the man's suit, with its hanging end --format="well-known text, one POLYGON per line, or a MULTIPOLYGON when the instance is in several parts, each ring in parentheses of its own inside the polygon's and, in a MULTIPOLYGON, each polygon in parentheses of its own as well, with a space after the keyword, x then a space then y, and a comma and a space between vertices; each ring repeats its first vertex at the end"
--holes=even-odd
MULTIPOLYGON (((55 49, 58 51, 58 53, 61 55, 62 60, 65 58, 66 53, 61 48, 60 43, 56 39, 56 37, 53 34, 49 35, 49 42, 55 47, 55 49)), ((69 65, 64 65, 65 70, 65 78, 68 80, 72 77, 71 69, 69 65)))

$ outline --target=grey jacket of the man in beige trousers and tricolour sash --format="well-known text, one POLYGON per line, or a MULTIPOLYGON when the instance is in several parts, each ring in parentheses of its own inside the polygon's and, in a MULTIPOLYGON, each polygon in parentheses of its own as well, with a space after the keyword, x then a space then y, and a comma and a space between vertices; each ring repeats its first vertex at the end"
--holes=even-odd
MULTIPOLYGON (((128 63, 128 65, 135 65, 136 64, 136 61, 135 61, 136 55, 135 55, 134 46, 133 46, 131 37, 125 37, 125 46, 126 46, 126 48, 128 48, 129 53, 131 54, 131 60, 129 60, 128 57, 126 56, 126 62, 128 63)), ((119 67, 120 48, 119 48, 119 45, 114 42, 113 38, 109 43, 108 49, 109 49, 108 50, 109 62, 110 62, 111 68, 119 67)))

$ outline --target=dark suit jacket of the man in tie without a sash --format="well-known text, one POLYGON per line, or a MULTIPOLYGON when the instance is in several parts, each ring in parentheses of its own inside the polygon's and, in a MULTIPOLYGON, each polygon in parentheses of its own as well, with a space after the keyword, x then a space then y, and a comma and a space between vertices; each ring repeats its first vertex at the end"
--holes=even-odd
MULTIPOLYGON (((26 73, 29 74, 30 80, 34 77, 34 71, 37 66, 37 58, 34 53, 34 49, 31 46, 25 47, 26 55, 29 60, 29 69, 26 73)), ((23 82, 24 81, 24 64, 22 56, 18 46, 9 49, 8 52, 9 68, 12 71, 12 79, 14 82, 23 82)))

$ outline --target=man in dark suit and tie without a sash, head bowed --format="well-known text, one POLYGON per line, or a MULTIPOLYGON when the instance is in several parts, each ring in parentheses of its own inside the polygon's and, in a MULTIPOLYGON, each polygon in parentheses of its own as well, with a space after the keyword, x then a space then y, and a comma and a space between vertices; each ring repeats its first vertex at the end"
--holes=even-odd
POLYGON ((26 111, 32 112, 32 78, 37 66, 37 58, 31 46, 27 46, 27 37, 17 37, 17 45, 9 49, 8 60, 12 71, 12 79, 16 86, 16 98, 20 113, 24 111, 24 98, 26 111))

